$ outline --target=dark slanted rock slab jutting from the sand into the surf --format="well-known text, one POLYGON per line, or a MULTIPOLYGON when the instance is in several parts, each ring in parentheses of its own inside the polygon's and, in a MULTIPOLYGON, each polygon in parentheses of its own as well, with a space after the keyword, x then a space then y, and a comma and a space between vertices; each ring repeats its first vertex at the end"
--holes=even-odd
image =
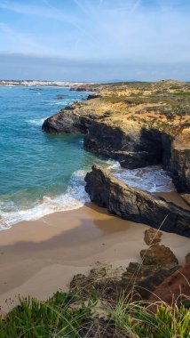
POLYGON ((86 191, 91 201, 106 207, 109 213, 125 220, 151 225, 154 228, 190 237, 190 212, 155 197, 144 190, 132 188, 115 179, 107 170, 93 165, 85 176, 86 191))

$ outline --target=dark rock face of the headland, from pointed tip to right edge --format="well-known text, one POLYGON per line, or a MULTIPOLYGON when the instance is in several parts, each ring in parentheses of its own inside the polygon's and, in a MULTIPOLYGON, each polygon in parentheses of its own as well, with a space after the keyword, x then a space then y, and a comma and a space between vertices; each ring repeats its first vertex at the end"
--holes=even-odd
POLYGON ((91 95, 84 103, 60 110, 44 121, 43 130, 83 133, 85 149, 118 160, 125 168, 162 164, 170 172, 178 191, 189 192, 189 148, 179 147, 173 136, 156 128, 135 121, 117 122, 115 112, 102 108, 100 96, 91 95))

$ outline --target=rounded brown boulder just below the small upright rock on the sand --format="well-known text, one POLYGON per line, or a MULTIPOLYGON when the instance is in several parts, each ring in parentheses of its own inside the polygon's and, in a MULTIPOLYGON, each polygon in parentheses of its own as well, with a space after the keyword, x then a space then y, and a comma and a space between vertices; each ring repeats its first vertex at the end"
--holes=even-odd
POLYGON ((144 265, 178 265, 175 254, 165 245, 151 245, 148 249, 140 251, 140 257, 144 265))

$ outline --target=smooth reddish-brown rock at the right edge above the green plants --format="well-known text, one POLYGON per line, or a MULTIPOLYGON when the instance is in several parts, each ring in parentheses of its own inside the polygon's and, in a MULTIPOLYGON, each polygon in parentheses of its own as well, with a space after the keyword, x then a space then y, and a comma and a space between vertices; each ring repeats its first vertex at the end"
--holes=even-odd
MULTIPOLYGON (((152 302, 166 302, 170 305, 185 303, 190 306, 190 264, 175 271, 166 278, 161 285, 155 288, 154 294, 150 296, 152 302)), ((151 310, 155 307, 152 306, 151 310)))

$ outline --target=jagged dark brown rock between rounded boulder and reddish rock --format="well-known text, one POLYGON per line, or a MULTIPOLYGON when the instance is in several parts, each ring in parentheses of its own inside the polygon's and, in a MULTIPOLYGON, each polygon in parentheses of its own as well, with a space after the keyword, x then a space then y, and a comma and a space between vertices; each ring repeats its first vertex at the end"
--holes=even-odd
POLYGON ((156 286, 169 277, 174 271, 178 270, 178 265, 143 265, 138 262, 131 262, 127 270, 123 273, 121 290, 125 294, 137 297, 137 293, 143 299, 148 299, 154 292, 156 286))

